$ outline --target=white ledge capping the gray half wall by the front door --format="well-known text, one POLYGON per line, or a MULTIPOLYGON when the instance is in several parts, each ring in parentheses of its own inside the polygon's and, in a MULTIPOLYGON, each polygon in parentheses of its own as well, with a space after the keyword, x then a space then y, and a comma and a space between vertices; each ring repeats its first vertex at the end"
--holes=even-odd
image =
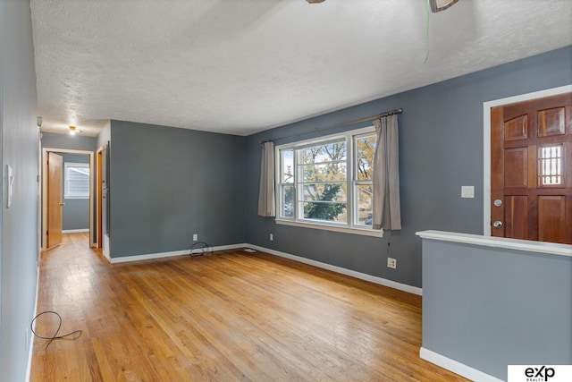
POLYGON ((443 231, 421 231, 416 233, 422 239, 442 242, 460 242, 504 250, 525 250, 527 252, 546 253, 551 255, 572 257, 572 245, 554 242, 534 242, 531 240, 509 239, 505 237, 482 236, 470 233, 453 233, 443 231))

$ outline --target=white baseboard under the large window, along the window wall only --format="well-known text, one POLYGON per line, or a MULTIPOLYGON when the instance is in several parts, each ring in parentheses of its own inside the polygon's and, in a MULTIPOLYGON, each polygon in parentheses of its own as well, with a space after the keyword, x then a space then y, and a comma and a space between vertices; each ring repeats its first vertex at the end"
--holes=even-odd
POLYGON ((365 273, 356 272, 354 270, 347 269, 344 267, 332 266, 331 264, 322 263, 320 261, 315 261, 312 259, 302 258, 302 257, 296 256, 296 255, 291 255, 290 253, 281 252, 279 250, 270 250, 268 248, 259 247, 257 245, 250 245, 250 244, 244 244, 244 245, 248 246, 249 248, 253 248, 255 250, 260 250, 260 251, 263 251, 266 253, 270 253, 271 255, 280 256, 281 258, 298 261, 299 263, 304 263, 304 264, 308 264, 308 265, 311 265, 314 267, 320 267, 323 269, 331 270, 332 272, 336 272, 336 273, 339 273, 341 275, 355 277, 355 278, 358 278, 360 280, 368 281, 370 283, 388 286, 388 287, 393 288, 393 289, 398 289, 400 291, 407 292, 407 293, 417 294, 419 296, 421 296, 423 294, 423 290, 421 288, 416 287, 416 286, 397 283, 395 281, 387 280, 385 278, 378 277, 378 276, 366 275, 365 273))

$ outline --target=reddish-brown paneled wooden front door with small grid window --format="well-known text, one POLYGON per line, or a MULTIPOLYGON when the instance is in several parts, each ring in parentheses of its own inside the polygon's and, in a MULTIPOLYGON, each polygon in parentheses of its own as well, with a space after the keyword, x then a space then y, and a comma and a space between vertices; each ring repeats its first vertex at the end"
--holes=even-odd
POLYGON ((572 93, 491 109, 493 236, 572 244, 572 93))

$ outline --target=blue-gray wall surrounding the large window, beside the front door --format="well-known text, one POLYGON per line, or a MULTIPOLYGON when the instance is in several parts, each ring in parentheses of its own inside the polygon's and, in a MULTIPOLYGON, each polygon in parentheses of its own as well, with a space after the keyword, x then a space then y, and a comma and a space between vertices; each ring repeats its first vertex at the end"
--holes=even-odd
POLYGON ((249 136, 248 242, 422 286, 417 231, 483 233, 483 102, 570 84, 571 67, 572 47, 565 47, 249 136), (399 116, 400 233, 379 239, 276 225, 273 218, 257 216, 261 140, 282 144, 294 139, 281 137, 293 134, 306 139, 317 135, 315 129, 398 107, 404 109, 399 116), (463 185, 475 186, 475 199, 460 198, 463 185), (273 242, 269 233, 273 233, 273 242), (386 267, 390 240, 397 269, 386 267))

